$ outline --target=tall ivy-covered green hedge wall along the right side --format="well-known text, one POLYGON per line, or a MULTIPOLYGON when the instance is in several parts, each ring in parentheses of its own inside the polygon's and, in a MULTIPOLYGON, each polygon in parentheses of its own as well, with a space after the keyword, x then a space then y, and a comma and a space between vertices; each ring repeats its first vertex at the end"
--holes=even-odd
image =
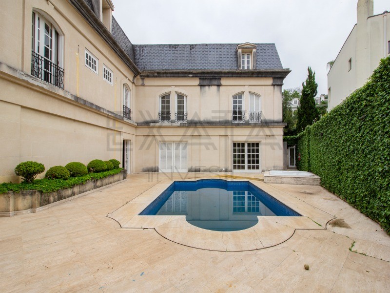
POLYGON ((390 233, 390 57, 370 80, 298 135, 300 170, 390 233))

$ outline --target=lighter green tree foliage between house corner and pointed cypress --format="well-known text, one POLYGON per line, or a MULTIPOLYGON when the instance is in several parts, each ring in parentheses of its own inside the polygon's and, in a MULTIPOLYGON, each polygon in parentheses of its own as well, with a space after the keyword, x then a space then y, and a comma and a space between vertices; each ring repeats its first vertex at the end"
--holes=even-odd
POLYGON ((289 88, 283 90, 283 102, 282 102, 282 111, 283 111, 283 122, 287 123, 287 126, 284 128, 285 135, 295 134, 296 130, 296 111, 292 111, 290 102, 292 99, 301 98, 301 89, 299 87, 289 88))

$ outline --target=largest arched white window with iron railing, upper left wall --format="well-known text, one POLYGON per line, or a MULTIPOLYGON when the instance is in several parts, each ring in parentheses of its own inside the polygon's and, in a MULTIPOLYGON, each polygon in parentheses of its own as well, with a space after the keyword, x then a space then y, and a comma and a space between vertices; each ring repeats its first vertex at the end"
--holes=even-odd
POLYGON ((31 75, 63 88, 63 41, 59 29, 39 12, 33 11, 31 39, 31 75))

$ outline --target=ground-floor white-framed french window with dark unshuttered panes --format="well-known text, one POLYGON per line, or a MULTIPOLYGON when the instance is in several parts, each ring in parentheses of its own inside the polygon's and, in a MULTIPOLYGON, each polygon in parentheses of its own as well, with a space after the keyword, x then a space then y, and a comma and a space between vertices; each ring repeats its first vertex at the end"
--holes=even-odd
POLYGON ((260 143, 233 143, 233 170, 260 170, 260 143))

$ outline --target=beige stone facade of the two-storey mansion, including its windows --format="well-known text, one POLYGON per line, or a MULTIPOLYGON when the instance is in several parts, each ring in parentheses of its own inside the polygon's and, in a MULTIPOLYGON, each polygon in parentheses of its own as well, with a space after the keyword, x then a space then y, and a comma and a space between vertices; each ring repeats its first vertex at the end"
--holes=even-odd
POLYGON ((30 160, 48 169, 115 158, 129 173, 161 171, 161 143, 181 147, 172 150, 172 171, 282 168, 282 84, 290 71, 278 56, 277 68, 266 65, 260 57, 268 47, 246 43, 230 52, 234 68, 141 68, 113 7, 110 0, 0 1, 0 182, 18 181, 14 168, 30 160), (161 120, 162 103, 171 121, 161 120))

